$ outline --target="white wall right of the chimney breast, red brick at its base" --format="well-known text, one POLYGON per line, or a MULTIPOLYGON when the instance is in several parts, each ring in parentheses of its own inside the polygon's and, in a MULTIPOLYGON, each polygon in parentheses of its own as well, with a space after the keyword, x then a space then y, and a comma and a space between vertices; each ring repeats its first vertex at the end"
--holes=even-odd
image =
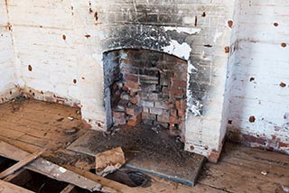
POLYGON ((289 2, 284 0, 238 0, 228 116, 232 140, 287 153, 288 9, 289 2))

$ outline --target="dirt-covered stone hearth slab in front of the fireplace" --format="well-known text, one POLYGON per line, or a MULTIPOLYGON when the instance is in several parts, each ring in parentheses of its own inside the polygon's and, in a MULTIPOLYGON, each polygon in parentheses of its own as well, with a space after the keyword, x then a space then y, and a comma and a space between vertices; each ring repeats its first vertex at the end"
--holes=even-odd
POLYGON ((153 130, 143 124, 123 126, 116 133, 86 133, 69 149, 94 156, 120 146, 126 155, 127 168, 194 186, 206 159, 185 152, 183 143, 169 133, 168 129, 154 127, 153 130))

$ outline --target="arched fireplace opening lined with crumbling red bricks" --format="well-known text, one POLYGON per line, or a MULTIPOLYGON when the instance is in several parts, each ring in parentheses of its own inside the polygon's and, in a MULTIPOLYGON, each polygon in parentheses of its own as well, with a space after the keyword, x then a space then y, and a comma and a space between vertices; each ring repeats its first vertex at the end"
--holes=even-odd
POLYGON ((159 51, 107 51, 104 88, 107 127, 148 124, 182 136, 188 62, 159 51))

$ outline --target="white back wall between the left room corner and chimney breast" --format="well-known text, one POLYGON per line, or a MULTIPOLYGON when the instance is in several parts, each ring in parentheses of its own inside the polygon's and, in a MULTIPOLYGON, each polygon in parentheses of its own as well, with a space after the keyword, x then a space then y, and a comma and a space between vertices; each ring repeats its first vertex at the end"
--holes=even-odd
POLYGON ((71 1, 9 0, 17 83, 31 97, 79 104, 71 1), (29 66, 32 70, 29 70, 29 66))

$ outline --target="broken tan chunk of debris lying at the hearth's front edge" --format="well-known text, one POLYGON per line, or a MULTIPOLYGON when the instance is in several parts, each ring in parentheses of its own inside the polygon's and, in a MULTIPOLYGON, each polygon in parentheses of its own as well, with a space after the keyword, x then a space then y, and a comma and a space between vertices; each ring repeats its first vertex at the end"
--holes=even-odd
POLYGON ((121 147, 114 148, 96 155, 96 173, 100 176, 120 169, 126 163, 125 153, 121 147))

